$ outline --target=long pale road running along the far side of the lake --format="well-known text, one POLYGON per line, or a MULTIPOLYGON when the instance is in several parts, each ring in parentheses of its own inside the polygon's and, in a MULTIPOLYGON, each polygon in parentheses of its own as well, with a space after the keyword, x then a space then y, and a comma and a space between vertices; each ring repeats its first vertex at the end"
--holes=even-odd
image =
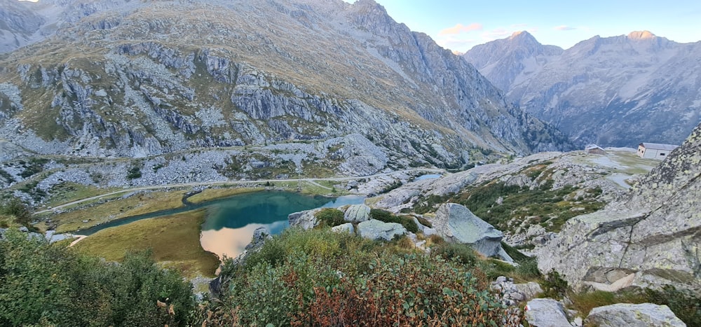
MULTIPOLYGON (((57 205, 56 207, 53 207, 51 209, 36 211, 36 212, 34 212, 34 214, 43 214, 45 212, 55 211, 57 209, 69 207, 69 206, 72 206, 74 204, 79 204, 81 202, 97 200, 97 199, 101 199, 102 197, 109 197, 111 195, 134 192, 137 190, 158 190, 161 188, 182 188, 182 187, 190 187, 190 186, 210 186, 210 185, 222 185, 222 184, 243 185, 243 184, 257 184, 257 183, 266 183, 266 182, 278 183, 278 182, 288 182, 288 181, 293 181, 293 182, 294 181, 306 181, 306 182, 315 184, 315 186, 321 186, 318 183, 316 183, 316 181, 353 181, 356 179, 372 179, 374 177, 391 176, 393 174, 404 174, 404 173, 410 173, 410 172, 433 172, 433 173, 443 174, 443 173, 445 173, 445 170, 444 169, 433 169, 433 168, 419 168, 419 169, 397 170, 395 172, 372 174, 372 175, 368 175, 368 176, 346 176, 346 177, 327 177, 327 178, 310 178, 310 179, 258 179, 258 180, 254 180, 254 181, 203 181, 203 182, 194 182, 194 183, 141 186, 141 187, 136 187, 136 188, 125 188, 123 190, 118 190, 118 191, 111 192, 111 193, 105 193, 102 195, 96 195, 94 197, 86 197, 85 199, 76 200, 76 201, 64 203, 61 205, 57 205)), ((325 186, 321 186, 321 187, 326 188, 325 186)))

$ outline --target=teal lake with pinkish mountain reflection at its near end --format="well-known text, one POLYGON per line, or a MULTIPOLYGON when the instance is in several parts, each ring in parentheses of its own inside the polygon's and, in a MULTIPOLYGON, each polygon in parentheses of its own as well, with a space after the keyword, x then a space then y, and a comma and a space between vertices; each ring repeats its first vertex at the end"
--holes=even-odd
POLYGON ((279 234, 289 225, 287 215, 293 212, 364 201, 364 197, 355 195, 334 199, 280 191, 236 195, 207 206, 200 243, 203 249, 216 253, 219 258, 234 258, 243 252, 256 228, 262 226, 272 234, 279 234))

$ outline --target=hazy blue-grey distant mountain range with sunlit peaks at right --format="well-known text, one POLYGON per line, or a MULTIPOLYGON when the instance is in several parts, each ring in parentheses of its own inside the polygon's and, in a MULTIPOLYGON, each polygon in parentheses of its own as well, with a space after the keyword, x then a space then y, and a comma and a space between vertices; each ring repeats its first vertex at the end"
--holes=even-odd
POLYGON ((579 144, 681 144, 701 121, 701 42, 643 31, 563 50, 518 32, 463 57, 579 144))

